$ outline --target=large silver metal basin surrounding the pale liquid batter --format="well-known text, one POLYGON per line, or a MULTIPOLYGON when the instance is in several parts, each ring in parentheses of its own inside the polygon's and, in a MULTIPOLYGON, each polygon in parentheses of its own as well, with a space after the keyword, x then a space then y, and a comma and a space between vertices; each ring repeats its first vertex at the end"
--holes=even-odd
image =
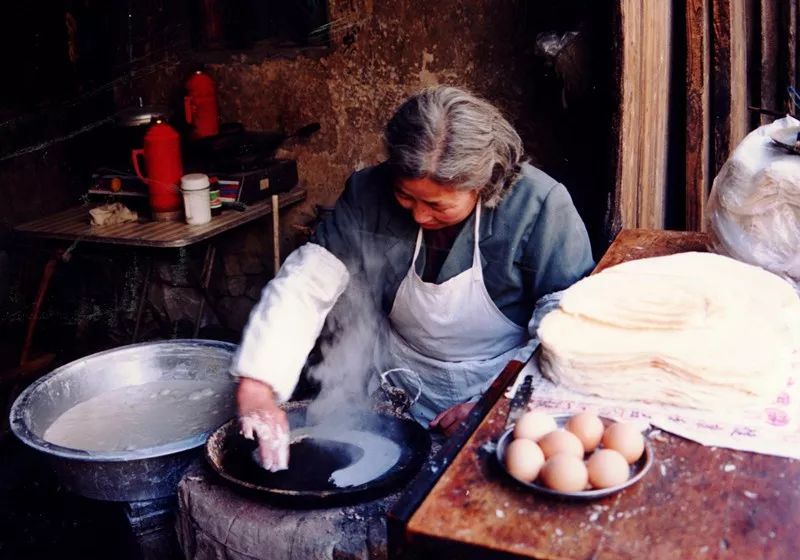
POLYGON ((63 412, 103 392, 167 380, 228 380, 236 346, 213 340, 168 340, 123 346, 64 365, 37 380, 11 407, 14 434, 46 455, 73 492, 109 501, 144 501, 174 494, 189 463, 217 426, 180 441, 120 452, 87 452, 42 436, 63 412))

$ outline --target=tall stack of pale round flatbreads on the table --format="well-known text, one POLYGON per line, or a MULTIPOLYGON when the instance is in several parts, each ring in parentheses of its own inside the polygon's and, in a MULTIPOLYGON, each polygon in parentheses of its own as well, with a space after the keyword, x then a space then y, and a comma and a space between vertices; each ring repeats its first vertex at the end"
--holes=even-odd
POLYGON ((551 380, 601 397, 720 409, 770 402, 800 347, 800 298, 711 253, 626 262, 566 290, 538 330, 551 380))

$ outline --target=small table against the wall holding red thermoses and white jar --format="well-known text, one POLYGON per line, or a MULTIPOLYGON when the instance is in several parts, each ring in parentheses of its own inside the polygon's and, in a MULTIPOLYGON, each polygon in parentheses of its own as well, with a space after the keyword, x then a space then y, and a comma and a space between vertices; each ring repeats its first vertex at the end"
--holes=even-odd
MULTIPOLYGON (((280 262, 277 249, 278 210, 300 202, 305 199, 305 197, 306 191, 304 189, 295 188, 289 192, 274 195, 272 198, 251 204, 243 211, 225 210, 221 215, 212 217, 210 222, 202 225, 189 225, 180 221, 130 222, 108 226, 92 226, 89 222, 89 207, 79 206, 15 227, 15 233, 25 237, 72 243, 72 246, 66 251, 63 247, 57 248, 53 252, 50 260, 45 264, 36 300, 28 319, 28 327, 25 342, 23 343, 20 363, 24 364, 28 360, 36 322, 53 271, 60 261, 65 260, 65 253, 68 256, 69 252, 72 251, 77 243, 86 242, 103 245, 123 245, 130 248, 170 249, 187 247, 189 245, 205 242, 206 248, 203 258, 203 268, 199 278, 197 278, 196 285, 193 286, 202 295, 200 305, 195 312, 194 336, 196 337, 200 328, 200 320, 205 311, 205 305, 207 302, 210 303, 208 285, 216 258, 216 246, 213 243, 214 238, 259 218, 272 215, 273 235, 276 238, 273 244, 273 257, 275 260, 275 270, 277 271, 280 262)), ((144 300, 150 286, 151 271, 152 262, 148 259, 144 282, 137 298, 136 322, 131 342, 135 342, 138 336, 144 300)))

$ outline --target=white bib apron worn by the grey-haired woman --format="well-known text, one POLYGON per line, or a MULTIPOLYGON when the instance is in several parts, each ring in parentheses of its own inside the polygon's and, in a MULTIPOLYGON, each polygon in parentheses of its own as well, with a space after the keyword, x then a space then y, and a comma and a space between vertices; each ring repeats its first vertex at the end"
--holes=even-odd
MULTIPOLYGON (((420 228, 411 267, 389 314, 386 365, 419 375, 422 391, 410 412, 423 424, 483 393, 527 341, 527 329, 503 315, 486 291, 478 247, 480 216, 479 203, 472 267, 442 284, 423 282, 417 274, 420 228)), ((396 372, 388 377, 409 395, 417 393, 417 376, 396 372)))

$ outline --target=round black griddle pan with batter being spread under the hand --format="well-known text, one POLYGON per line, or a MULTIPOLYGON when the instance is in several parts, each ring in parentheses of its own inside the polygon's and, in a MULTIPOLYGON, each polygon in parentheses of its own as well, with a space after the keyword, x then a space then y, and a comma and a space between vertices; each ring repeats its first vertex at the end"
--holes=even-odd
MULTIPOLYGON (((307 406, 307 402, 283 406, 292 429, 306 425, 307 406)), ((314 449, 292 444, 289 470, 269 473, 253 460, 256 444, 241 436, 238 420, 231 420, 208 438, 206 459, 212 469, 240 490, 289 506, 319 507, 356 503, 386 495, 410 480, 428 458, 430 434, 413 420, 368 413, 353 426, 355 429, 360 427, 377 431, 399 444, 401 455, 386 473, 358 486, 339 488, 328 482, 332 470, 346 464, 327 440, 314 449)))

